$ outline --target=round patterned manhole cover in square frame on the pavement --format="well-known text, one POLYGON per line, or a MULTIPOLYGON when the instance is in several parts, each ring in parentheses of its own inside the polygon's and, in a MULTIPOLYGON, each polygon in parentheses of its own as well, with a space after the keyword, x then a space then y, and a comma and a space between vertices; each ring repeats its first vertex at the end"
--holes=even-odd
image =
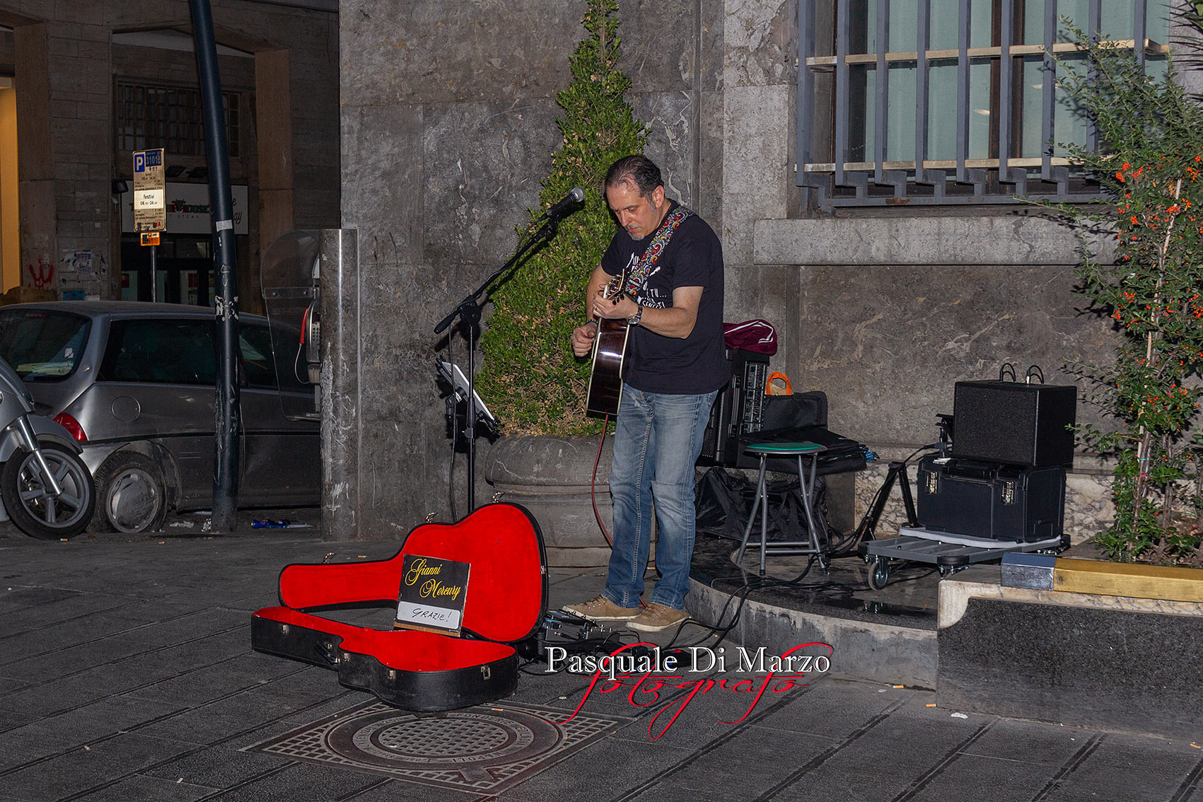
POLYGON ((428 785, 500 791, 552 766, 608 730, 618 715, 494 702, 446 713, 407 713, 368 702, 263 741, 266 751, 428 785))

